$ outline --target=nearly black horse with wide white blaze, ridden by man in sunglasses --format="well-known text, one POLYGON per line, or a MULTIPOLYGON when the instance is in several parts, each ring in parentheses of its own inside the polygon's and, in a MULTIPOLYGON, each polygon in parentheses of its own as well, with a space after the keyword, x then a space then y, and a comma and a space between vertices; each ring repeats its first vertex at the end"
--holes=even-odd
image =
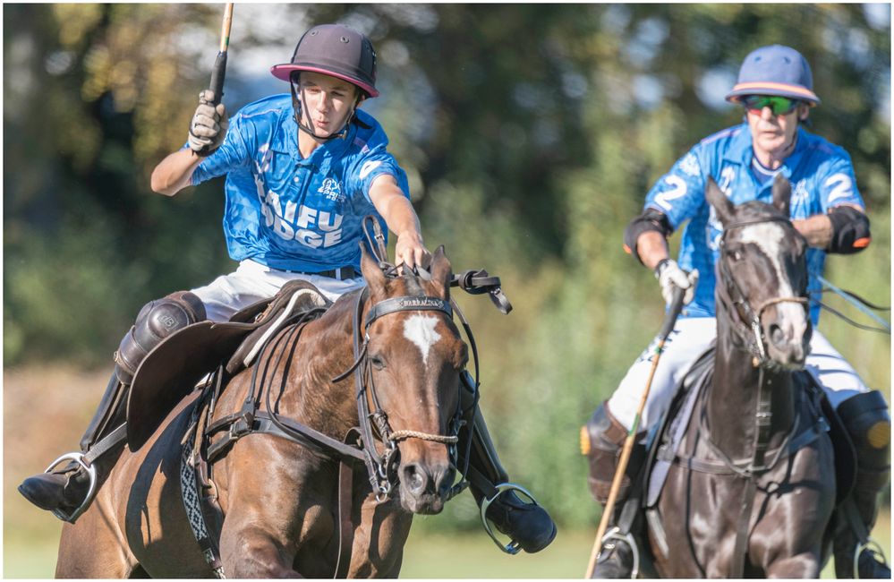
POLYGON ((662 578, 817 578, 828 559, 835 460, 813 387, 796 372, 812 328, 789 196, 779 178, 773 205, 734 206, 712 181, 706 190, 723 225, 716 355, 647 509, 662 578))

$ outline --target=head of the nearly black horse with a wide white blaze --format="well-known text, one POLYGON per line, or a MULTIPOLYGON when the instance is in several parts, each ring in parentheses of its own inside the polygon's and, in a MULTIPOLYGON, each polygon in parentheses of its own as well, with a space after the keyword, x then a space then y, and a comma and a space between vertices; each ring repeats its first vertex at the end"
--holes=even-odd
POLYGON ((773 203, 738 206, 709 179, 705 198, 723 225, 717 312, 763 365, 804 367, 812 327, 807 304, 807 242, 788 218, 791 186, 773 181, 773 203))

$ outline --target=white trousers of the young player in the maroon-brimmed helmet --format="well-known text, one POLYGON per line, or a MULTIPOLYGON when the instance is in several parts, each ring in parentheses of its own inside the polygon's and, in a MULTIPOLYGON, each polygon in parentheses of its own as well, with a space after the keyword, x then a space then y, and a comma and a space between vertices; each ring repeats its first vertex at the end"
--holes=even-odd
POLYGON ((222 275, 205 287, 191 290, 205 304, 205 312, 210 321, 229 321, 241 309, 277 295, 285 283, 294 279, 310 281, 329 301, 335 301, 341 295, 366 285, 366 280, 362 277, 338 280, 319 275, 290 273, 270 269, 260 262, 246 259, 239 263, 233 273, 222 275))

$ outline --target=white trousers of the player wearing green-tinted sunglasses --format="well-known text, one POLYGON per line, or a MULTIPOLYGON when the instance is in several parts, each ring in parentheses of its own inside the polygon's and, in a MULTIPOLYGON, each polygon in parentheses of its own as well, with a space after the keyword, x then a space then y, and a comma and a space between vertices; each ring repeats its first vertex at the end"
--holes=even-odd
MULTIPOLYGON (((670 406, 674 391, 689 368, 702 355, 717 335, 717 320, 712 317, 687 317, 677 320, 674 330, 668 336, 661 353, 655 376, 652 379, 649 398, 643 408, 643 415, 637 432, 648 431, 660 422, 661 416, 670 406)), ((657 340, 652 341, 642 355, 627 371, 624 380, 609 398, 609 411, 627 430, 634 424, 636 408, 639 407, 646 382, 651 371, 657 340)), ((869 389, 844 357, 831 346, 829 340, 818 330, 813 330, 810 340, 810 355, 805 361, 805 369, 820 383, 832 407, 847 398, 869 389)))

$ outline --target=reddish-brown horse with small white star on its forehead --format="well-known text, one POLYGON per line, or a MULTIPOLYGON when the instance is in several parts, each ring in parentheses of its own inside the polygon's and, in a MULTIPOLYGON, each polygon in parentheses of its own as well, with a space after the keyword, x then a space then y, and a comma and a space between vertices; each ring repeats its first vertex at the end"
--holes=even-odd
MULTIPOLYGON (((362 425, 357 402, 364 400, 379 418, 372 459, 390 459, 373 464, 379 490, 356 463, 349 515, 340 519, 337 455, 282 433, 244 434, 210 469, 222 510, 219 565, 228 578, 330 578, 345 554, 339 543, 352 538, 342 575, 396 577, 413 513, 438 513, 451 490, 459 374, 468 351, 449 310, 450 263, 441 248, 430 280, 412 273, 387 278, 364 252, 362 272, 365 289, 268 342, 257 363, 219 393, 208 424, 227 426, 228 416, 254 400, 258 417, 312 427, 340 442, 362 425), (353 347, 358 325, 362 347, 353 347), (359 392, 351 381, 355 367, 366 381, 359 392)), ((136 453, 124 451, 90 509, 64 526, 57 577, 214 576, 180 486, 182 441, 203 399, 193 392, 136 453)))

